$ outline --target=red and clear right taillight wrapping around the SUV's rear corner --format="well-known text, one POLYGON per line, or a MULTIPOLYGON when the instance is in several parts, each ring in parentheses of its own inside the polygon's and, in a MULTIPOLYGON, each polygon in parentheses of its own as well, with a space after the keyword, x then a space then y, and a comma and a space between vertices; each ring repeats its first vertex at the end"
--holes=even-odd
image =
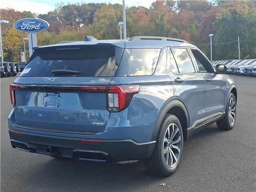
POLYGON ((127 108, 133 95, 139 90, 139 85, 109 86, 106 90, 108 111, 118 112, 127 108))

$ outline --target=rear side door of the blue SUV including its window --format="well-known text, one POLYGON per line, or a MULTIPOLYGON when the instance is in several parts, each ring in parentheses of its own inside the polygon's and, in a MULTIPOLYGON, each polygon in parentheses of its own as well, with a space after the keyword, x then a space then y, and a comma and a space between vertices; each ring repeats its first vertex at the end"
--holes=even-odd
POLYGON ((187 48, 171 47, 167 61, 173 94, 186 105, 190 127, 204 124, 206 116, 204 76, 196 72, 187 48))

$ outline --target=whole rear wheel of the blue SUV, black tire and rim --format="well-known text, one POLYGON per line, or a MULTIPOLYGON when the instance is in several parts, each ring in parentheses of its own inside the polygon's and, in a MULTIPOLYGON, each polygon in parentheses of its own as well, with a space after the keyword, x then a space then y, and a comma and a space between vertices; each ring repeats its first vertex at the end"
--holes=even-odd
MULTIPOLYGON (((170 137, 169 137, 170 138, 170 137)), ((160 126, 157 138, 156 146, 152 156, 144 160, 146 169, 155 175, 170 176, 178 168, 180 158, 183 151, 183 133, 178 118, 172 114, 166 114, 162 124, 160 126), (168 128, 170 130, 170 136, 176 132, 174 138, 168 140, 168 128), (178 130, 177 130, 178 129, 178 130), (165 141, 165 142, 164 142, 165 141), (177 142, 178 141, 178 142, 177 142), (176 143, 174 143, 176 142, 176 143), (175 147, 174 147, 175 146, 175 147), (180 152, 178 153, 179 148, 180 152), (172 155, 170 155, 172 154, 172 155), (167 155, 170 155, 167 157, 167 155), (175 158, 174 158, 175 155, 175 158), (169 161, 167 162, 166 159, 169 161)))

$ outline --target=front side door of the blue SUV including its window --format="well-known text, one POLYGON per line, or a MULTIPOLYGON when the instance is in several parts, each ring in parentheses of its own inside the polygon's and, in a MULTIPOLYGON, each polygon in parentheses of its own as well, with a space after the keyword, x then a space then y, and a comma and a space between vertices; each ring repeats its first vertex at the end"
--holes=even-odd
POLYGON ((206 91, 205 110, 206 121, 218 118, 224 112, 224 86, 222 74, 216 74, 210 61, 197 49, 190 49, 198 73, 203 76, 206 91))

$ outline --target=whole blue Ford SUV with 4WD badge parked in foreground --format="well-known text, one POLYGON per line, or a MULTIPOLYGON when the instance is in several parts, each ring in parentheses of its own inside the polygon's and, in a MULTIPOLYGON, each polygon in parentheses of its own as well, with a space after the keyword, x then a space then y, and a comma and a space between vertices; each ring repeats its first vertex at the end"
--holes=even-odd
POLYGON ((54 158, 144 160, 169 176, 184 140, 214 122, 234 127, 236 85, 225 65, 216 70, 196 46, 174 38, 86 36, 35 47, 10 85, 11 144, 54 158))

